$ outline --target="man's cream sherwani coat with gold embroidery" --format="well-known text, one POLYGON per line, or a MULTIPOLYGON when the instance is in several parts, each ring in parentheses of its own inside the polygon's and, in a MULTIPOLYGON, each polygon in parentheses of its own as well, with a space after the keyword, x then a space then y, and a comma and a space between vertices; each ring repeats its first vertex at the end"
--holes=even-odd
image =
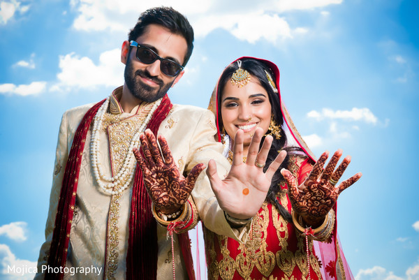
MULTIPOLYGON (((100 163, 106 176, 111 176, 111 170, 118 172, 128 152, 132 135, 138 130, 145 116, 153 104, 142 103, 133 108, 131 112, 122 112, 119 98, 122 87, 115 89, 110 96, 108 112, 103 118, 103 126, 99 133, 100 163)), ((64 113, 57 143, 54 177, 50 196, 50 209, 45 228, 45 243, 41 247, 38 259, 38 272, 42 272, 42 265, 47 264, 50 251, 50 242, 54 229, 57 205, 64 177, 68 154, 71 149, 75 131, 84 114, 93 104, 73 108, 64 113)), ((221 155, 222 145, 214 141, 216 127, 214 115, 208 110, 186 105, 173 105, 168 117, 159 127, 159 135, 168 141, 179 170, 186 174, 198 163, 207 164, 210 159, 217 163, 219 176, 224 177, 230 164, 221 155)), ((128 218, 131 207, 131 186, 120 196, 111 196, 104 193, 94 179, 90 156, 91 129, 87 133, 86 144, 80 167, 78 190, 73 223, 70 233, 70 244, 66 267, 95 267, 96 272, 89 274, 65 274, 65 279, 103 279, 108 264, 112 261, 109 251, 117 253, 113 261, 117 262, 115 270, 116 279, 124 279, 126 273, 126 251, 128 248, 128 218), (115 235, 116 231, 116 235, 115 235), (111 246, 107 240, 116 236, 119 241, 117 246, 111 246), (107 247, 108 246, 108 247, 107 247), (105 251, 108 257, 105 259, 105 251), (101 272, 98 273, 98 270, 101 272)), ((223 211, 220 209, 210 182, 202 172, 192 192, 193 202, 198 209, 200 219, 205 226, 218 235, 226 235, 236 240, 247 237, 247 228, 240 233, 232 230, 223 211)), ((157 226, 158 234, 158 279, 172 279, 170 239, 166 238, 166 228, 157 226)), ((175 270, 176 279, 187 279, 182 257, 179 253, 175 237, 175 270)), ((113 255, 112 255, 113 256, 113 255)), ((141 277, 140 275, 138 277, 141 277)), ((37 274, 36 279, 43 279, 43 274, 37 274)))

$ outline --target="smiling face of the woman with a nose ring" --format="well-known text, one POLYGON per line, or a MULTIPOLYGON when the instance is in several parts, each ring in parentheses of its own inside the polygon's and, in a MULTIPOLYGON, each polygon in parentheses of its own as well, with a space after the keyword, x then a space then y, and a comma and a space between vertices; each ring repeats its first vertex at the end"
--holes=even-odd
POLYGON ((250 145, 257 127, 264 134, 270 125, 271 105, 265 89, 258 79, 251 79, 244 87, 237 87, 230 80, 221 94, 221 118, 226 133, 234 139, 237 130, 244 131, 244 145, 250 145))

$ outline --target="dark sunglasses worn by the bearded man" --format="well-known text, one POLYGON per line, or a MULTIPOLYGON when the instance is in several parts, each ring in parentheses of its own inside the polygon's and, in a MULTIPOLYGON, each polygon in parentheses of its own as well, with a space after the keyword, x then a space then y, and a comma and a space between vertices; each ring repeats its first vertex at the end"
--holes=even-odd
POLYGON ((135 42, 135 40, 131 40, 130 46, 137 47, 135 56, 143 64, 152 64, 154 61, 159 59, 160 71, 165 75, 175 77, 184 68, 182 65, 177 64, 175 61, 170 59, 163 59, 163 57, 160 57, 159 54, 156 54, 156 52, 154 52, 152 49, 146 47, 145 45, 140 45, 139 43, 135 42))

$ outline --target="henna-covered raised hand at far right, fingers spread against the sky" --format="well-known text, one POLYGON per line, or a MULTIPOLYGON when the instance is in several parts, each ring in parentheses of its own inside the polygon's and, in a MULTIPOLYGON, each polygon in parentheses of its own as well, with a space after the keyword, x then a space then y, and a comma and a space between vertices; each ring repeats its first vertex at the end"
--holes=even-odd
POLYGON ((329 156, 329 152, 324 152, 314 164, 310 175, 300 186, 297 186, 297 179, 290 171, 281 170, 281 174, 288 184, 288 196, 294 211, 300 214, 310 226, 318 226, 335 205, 339 194, 362 176, 362 173, 359 172, 335 186, 351 162, 351 156, 346 156, 335 170, 341 155, 341 149, 337 150, 323 170, 323 165, 329 156))

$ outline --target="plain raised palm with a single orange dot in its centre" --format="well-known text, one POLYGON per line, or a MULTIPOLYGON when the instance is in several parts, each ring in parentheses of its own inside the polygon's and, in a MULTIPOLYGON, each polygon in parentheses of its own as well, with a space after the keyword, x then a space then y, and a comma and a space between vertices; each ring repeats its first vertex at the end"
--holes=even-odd
POLYGON ((221 209, 237 219, 248 219, 258 213, 270 189, 272 176, 286 156, 285 151, 279 153, 277 159, 263 172, 272 136, 265 138, 259 152, 263 129, 257 128, 249 146, 247 161, 243 163, 243 134, 239 130, 235 135, 233 165, 225 179, 218 177, 214 160, 208 163, 207 168, 212 190, 221 209))

